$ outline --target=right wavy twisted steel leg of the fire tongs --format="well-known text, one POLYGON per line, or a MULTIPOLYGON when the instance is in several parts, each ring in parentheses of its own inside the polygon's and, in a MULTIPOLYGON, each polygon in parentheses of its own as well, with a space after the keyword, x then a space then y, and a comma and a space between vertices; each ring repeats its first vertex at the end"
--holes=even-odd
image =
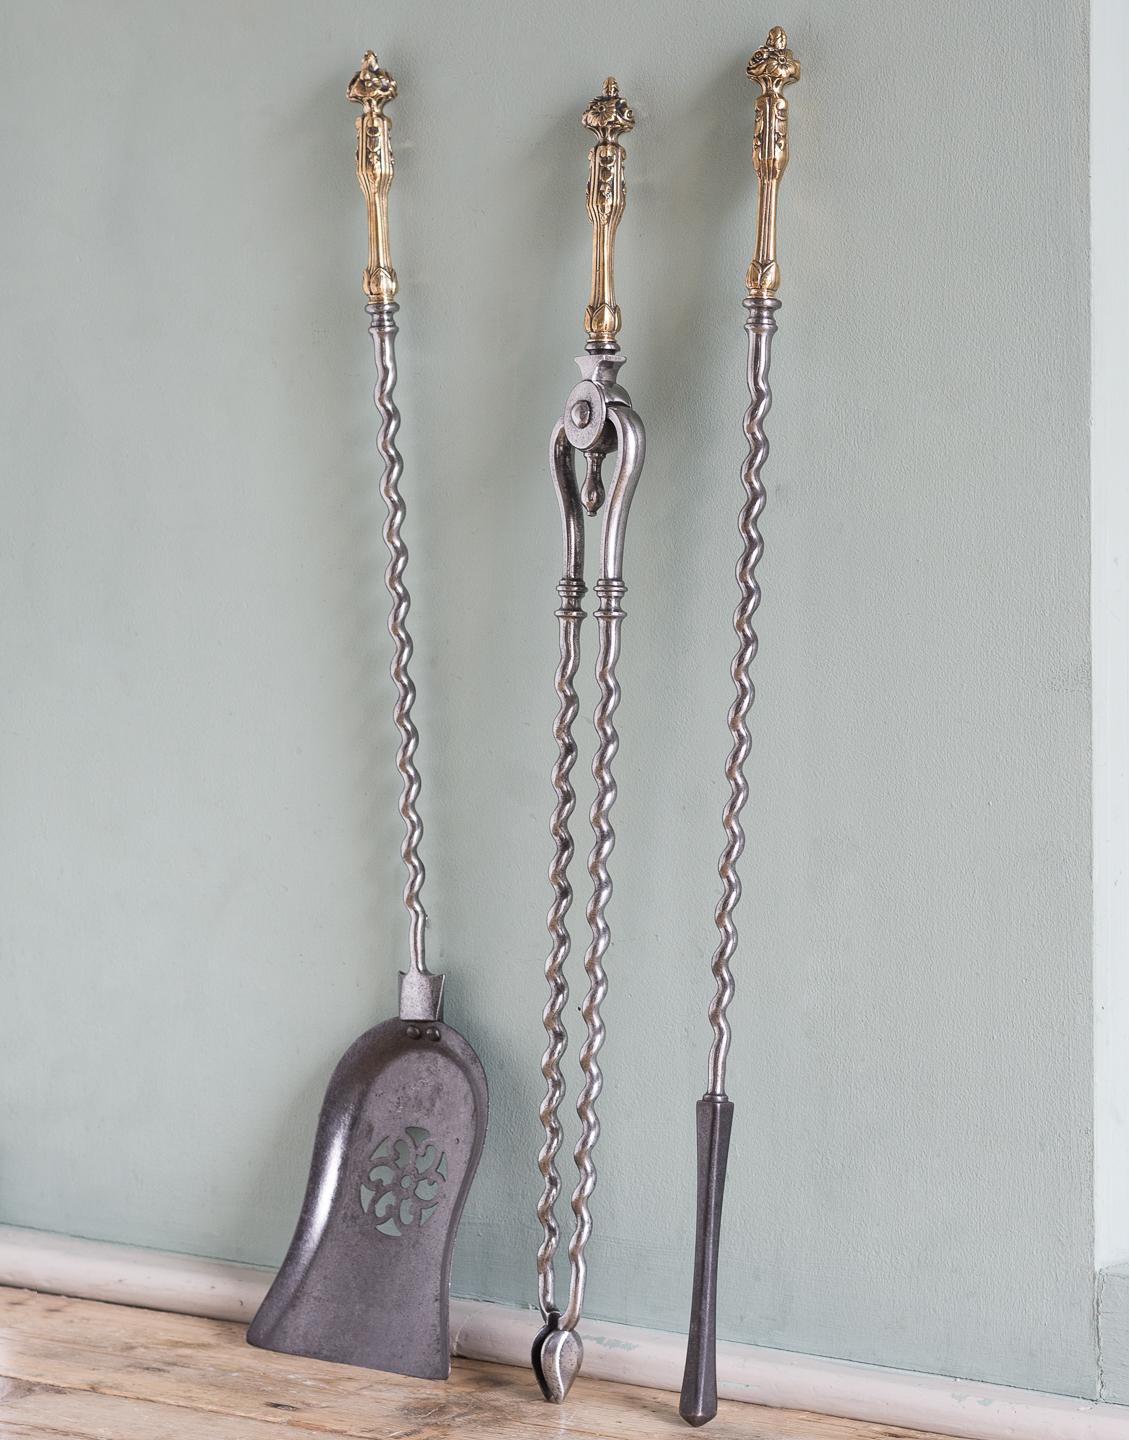
POLYGON ((599 652, 596 655, 599 700, 593 716, 596 753, 592 760, 596 798, 592 802, 590 814, 593 845, 588 857, 588 874, 592 880, 592 896, 586 912, 592 937, 585 955, 588 994, 580 1007, 580 1015, 586 1027, 585 1043, 580 1047, 580 1071, 585 1083, 576 1100, 576 1113, 580 1119, 580 1136, 573 1152, 577 1182, 572 1195, 572 1210, 576 1224, 569 1241, 572 1284, 569 1287, 567 1309, 560 1316, 560 1329, 563 1331, 576 1328, 580 1310, 583 1309, 585 1283, 588 1279, 585 1247, 592 1236, 589 1200, 592 1198, 592 1191, 596 1188, 596 1166, 592 1155, 601 1133, 596 1100, 603 1089, 599 1051, 603 1045, 605 1025, 601 1015, 601 1005, 608 994, 608 975, 603 969, 603 956, 608 952, 611 940, 606 909, 612 897, 612 878, 608 861, 615 848, 615 829, 612 828, 611 815, 616 795, 619 793, 612 775, 612 763, 619 750, 619 734, 615 729, 615 711, 619 706, 619 683, 615 668, 619 660, 619 629, 624 611, 618 602, 625 592, 626 586, 622 580, 609 580, 605 576, 596 580, 596 595, 601 599, 599 608, 595 612, 599 626, 599 652))

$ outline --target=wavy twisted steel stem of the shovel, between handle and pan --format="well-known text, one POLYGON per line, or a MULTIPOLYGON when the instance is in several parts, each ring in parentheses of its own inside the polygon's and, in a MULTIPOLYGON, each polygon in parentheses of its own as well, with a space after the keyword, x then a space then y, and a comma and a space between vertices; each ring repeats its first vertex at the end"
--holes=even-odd
POLYGON ((408 672, 412 660, 412 636, 408 631, 408 612, 412 598, 405 585, 403 572, 408 566, 408 546, 403 541, 403 518, 406 507, 400 495, 400 474, 403 472, 403 458, 396 448, 396 433, 400 428, 400 412, 392 393, 396 387, 396 321, 397 307, 390 302, 366 305, 372 317, 369 334, 373 337, 376 354, 376 389, 373 403, 380 413, 380 432, 376 448, 384 461, 384 472, 380 480, 380 494, 387 505, 384 520, 384 544, 389 550, 389 564, 384 572, 384 583, 392 598, 389 612, 389 634, 393 641, 392 678, 396 683, 396 708, 393 717, 400 733, 400 746, 396 752, 396 769, 400 772, 403 786, 400 789, 400 815, 403 816, 403 842, 400 855, 408 868, 408 880, 403 887, 403 903, 410 917, 409 955, 412 969, 428 973, 423 959, 423 929, 428 922, 420 891, 426 871, 419 858, 419 842, 423 838, 423 822, 419 818, 416 802, 419 801, 419 770, 415 755, 419 747, 419 732, 412 720, 412 706, 416 698, 416 687, 408 672))

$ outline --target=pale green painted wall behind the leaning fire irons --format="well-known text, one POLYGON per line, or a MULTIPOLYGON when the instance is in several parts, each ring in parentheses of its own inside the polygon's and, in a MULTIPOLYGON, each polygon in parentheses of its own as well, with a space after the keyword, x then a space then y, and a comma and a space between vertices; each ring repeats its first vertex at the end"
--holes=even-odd
POLYGON ((1 1220, 276 1260, 330 1068, 395 1004, 343 95, 373 45, 402 86, 431 946, 494 1094, 455 1287, 534 1299, 544 452, 582 338, 577 114, 615 72, 638 115, 619 298, 649 461, 590 1309, 684 1325, 743 452, 743 65, 781 20, 804 79, 720 1328, 1094 1392, 1081 0, 4 7, 1 1220))

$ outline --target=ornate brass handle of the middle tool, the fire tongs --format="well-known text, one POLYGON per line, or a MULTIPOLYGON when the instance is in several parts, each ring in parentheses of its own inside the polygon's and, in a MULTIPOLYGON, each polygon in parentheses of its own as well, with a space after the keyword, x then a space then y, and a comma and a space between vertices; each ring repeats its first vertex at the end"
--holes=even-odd
POLYGON ((580 124, 596 135, 588 153, 588 215, 592 220, 592 297, 585 311, 589 343, 612 343, 619 334, 619 305, 615 302, 613 249, 615 229, 624 217, 626 184, 624 160, 626 151, 619 135, 635 127, 631 105, 619 95, 615 76, 603 82, 598 95, 580 117, 580 124))

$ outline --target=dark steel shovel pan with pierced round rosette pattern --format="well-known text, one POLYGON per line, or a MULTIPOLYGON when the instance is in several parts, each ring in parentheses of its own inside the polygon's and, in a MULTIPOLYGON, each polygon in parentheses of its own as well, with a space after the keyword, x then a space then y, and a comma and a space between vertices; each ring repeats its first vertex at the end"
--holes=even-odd
POLYGON ((485 1117, 482 1066, 449 1025, 396 1018, 354 1041, 251 1344, 445 1380, 451 1256, 485 1117))

